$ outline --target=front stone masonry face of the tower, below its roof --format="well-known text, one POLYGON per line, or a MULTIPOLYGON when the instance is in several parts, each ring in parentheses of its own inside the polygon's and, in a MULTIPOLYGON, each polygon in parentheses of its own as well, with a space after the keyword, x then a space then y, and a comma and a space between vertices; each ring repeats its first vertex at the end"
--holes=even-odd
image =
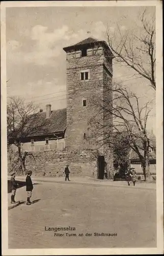
MULTIPOLYGON (((94 55, 81 58, 73 58, 67 61, 67 130, 66 147, 68 150, 94 149, 95 140, 83 139, 89 134, 89 121, 98 112, 91 109, 89 99, 97 94, 103 100, 103 56, 94 55), (80 71, 90 70, 89 80, 80 80, 80 71), (83 106, 83 99, 87 100, 87 106, 83 106)), ((98 117, 103 120, 103 114, 98 117)))

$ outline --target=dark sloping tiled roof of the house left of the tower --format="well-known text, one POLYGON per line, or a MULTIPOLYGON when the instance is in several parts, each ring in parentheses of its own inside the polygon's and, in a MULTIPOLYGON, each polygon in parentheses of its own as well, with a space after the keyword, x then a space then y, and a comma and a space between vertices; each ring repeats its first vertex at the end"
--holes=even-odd
POLYGON ((40 112, 32 125, 35 125, 35 123, 40 128, 28 137, 64 132, 67 127, 67 109, 53 110, 49 118, 46 118, 45 112, 40 112))

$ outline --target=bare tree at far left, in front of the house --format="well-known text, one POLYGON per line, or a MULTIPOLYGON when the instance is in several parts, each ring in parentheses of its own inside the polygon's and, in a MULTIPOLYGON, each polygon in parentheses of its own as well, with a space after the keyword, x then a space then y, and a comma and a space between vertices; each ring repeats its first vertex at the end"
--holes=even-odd
POLYGON ((10 97, 7 103, 7 136, 8 145, 18 148, 19 167, 25 173, 25 158, 28 152, 23 151, 23 139, 44 129, 44 122, 38 121, 38 106, 33 102, 25 103, 20 97, 10 97))

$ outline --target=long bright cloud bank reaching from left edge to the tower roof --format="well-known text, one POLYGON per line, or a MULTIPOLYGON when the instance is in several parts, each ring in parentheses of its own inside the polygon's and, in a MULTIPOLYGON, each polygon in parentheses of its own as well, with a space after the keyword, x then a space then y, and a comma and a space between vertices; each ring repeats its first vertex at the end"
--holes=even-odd
MULTIPOLYGON (((32 47, 30 51, 26 49, 26 52, 21 52, 21 49, 19 49, 19 57, 22 61, 39 66, 56 66, 59 62, 58 57, 62 53, 64 54, 63 47, 75 44, 86 37, 95 37, 100 40, 105 39, 104 32, 106 27, 101 21, 92 24, 88 30, 90 33, 87 34, 85 28, 74 31, 67 25, 63 25, 53 31, 49 31, 48 27, 42 25, 34 26, 28 35, 32 47)), ((8 44, 11 45, 9 52, 13 52, 21 46, 15 40, 8 42, 8 44)))

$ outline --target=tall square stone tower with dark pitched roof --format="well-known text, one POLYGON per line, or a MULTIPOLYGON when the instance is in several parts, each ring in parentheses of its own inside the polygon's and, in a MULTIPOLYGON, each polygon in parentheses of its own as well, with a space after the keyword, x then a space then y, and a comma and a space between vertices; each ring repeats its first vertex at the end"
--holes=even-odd
MULTIPOLYGON (((107 107, 112 104, 112 93, 108 88, 112 86, 113 54, 105 41, 91 37, 63 50, 67 53, 66 148, 93 150, 96 139, 91 136, 91 130, 96 134, 97 127, 91 118, 97 113, 96 120, 102 125, 105 122, 112 124, 112 116, 102 110, 99 112, 94 100, 102 105, 107 99, 107 107)), ((104 125, 99 139, 105 139, 105 129, 104 125)), ((110 133, 109 127, 107 129, 110 133)), ((105 151, 108 152, 105 146, 101 146, 100 155, 108 154, 105 151)))

